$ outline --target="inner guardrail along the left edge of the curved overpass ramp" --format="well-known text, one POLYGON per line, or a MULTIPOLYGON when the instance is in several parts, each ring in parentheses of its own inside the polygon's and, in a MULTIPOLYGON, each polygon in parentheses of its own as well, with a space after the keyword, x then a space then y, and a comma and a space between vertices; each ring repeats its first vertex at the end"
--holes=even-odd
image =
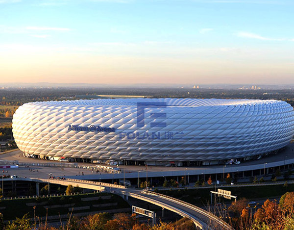
POLYGON ((148 197, 145 197, 145 196, 142 196, 142 195, 139 195, 139 194, 135 194, 135 193, 128 193, 128 195, 129 196, 131 196, 131 197, 134 197, 134 198, 137 198, 137 199, 140 199, 140 200, 145 200, 145 201, 149 201, 151 204, 154 204, 154 202, 157 202, 158 204, 161 204, 161 206, 165 206, 165 208, 168 208, 168 209, 170 209, 171 211, 173 211, 173 212, 176 212, 176 213, 178 213, 179 215, 181 215, 181 216, 183 216, 183 217, 188 217, 189 219, 191 219, 193 222, 194 222, 194 224, 198 227, 198 228, 200 228, 200 229, 203 229, 204 227, 206 227, 206 224, 205 223, 203 223, 202 221, 199 221, 199 220, 196 220, 192 215, 190 215, 189 213, 187 213, 187 212, 185 212, 185 211, 183 211, 183 210, 180 210, 180 209, 178 209, 178 208, 175 208, 175 207, 173 207, 173 206, 171 206, 171 205, 169 205, 169 204, 164 204, 164 203, 162 203, 162 202, 160 202, 160 201, 156 201, 156 200, 154 200, 154 199, 150 199, 150 198, 148 198, 148 197), (201 223, 200 223, 201 222, 201 223))

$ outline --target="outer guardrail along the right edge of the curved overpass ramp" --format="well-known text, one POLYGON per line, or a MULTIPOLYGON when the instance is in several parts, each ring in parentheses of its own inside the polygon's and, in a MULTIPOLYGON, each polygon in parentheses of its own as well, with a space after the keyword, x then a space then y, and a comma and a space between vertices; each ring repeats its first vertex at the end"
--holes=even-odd
POLYGON ((185 206, 190 207, 190 208, 196 210, 197 212, 199 212, 199 213, 207 216, 209 219, 212 219, 212 220, 216 221, 224 229, 226 229, 226 230, 233 230, 233 228, 230 225, 228 225, 226 222, 224 222, 223 220, 221 220, 219 217, 215 216, 211 212, 208 212, 208 211, 206 211, 206 210, 204 210, 204 209, 202 209, 200 207, 197 207, 194 204, 189 204, 188 202, 184 202, 184 201, 178 200, 176 198, 169 197, 169 196, 166 196, 166 195, 163 195, 163 194, 160 194, 160 193, 156 193, 156 192, 152 192, 152 191, 148 191, 148 190, 143 190, 142 192, 143 193, 146 193, 146 194, 151 194, 151 195, 159 196, 159 197, 162 197, 162 198, 165 198, 165 199, 168 199, 168 200, 172 200, 172 201, 175 201, 176 203, 179 203, 179 204, 184 204, 185 206))

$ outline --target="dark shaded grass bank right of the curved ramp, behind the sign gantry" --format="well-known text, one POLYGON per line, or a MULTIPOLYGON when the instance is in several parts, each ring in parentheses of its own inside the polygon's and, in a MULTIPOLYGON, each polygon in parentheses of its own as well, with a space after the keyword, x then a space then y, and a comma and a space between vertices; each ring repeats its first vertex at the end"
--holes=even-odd
MULTIPOLYGON (((283 185, 256 185, 247 187, 222 187, 221 189, 232 192, 232 195, 238 198, 245 197, 249 200, 259 198, 269 198, 282 196, 286 192, 294 191, 294 184, 288 184, 287 188, 283 185)), ((159 190, 161 194, 165 194, 190 204, 207 204, 210 201, 210 191, 214 191, 214 187, 201 189, 177 189, 177 190, 159 190)))

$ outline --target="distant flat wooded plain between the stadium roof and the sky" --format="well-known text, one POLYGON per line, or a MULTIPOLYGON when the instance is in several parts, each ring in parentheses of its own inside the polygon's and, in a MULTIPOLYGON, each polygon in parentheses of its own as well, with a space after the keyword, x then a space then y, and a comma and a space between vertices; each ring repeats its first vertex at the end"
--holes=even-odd
POLYGON ((192 88, 10 88, 0 89, 0 104, 75 100, 77 95, 147 95, 154 98, 274 99, 294 106, 293 89, 192 89, 192 88), (268 94, 265 94, 268 93, 268 94))

